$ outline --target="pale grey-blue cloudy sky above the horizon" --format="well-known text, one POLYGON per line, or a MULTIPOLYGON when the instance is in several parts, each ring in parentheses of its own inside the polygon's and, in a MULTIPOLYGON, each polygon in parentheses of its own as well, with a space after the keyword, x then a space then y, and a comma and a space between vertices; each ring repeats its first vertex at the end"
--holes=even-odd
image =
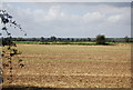
MULTIPOLYGON (((125 0, 123 2, 29 1, 31 2, 7 1, 0 6, 21 24, 28 33, 27 37, 94 38, 98 34, 105 34, 109 38, 131 37, 130 0, 126 0, 129 2, 125 0)), ((18 29, 10 28, 9 31, 14 37, 23 37, 18 29)))

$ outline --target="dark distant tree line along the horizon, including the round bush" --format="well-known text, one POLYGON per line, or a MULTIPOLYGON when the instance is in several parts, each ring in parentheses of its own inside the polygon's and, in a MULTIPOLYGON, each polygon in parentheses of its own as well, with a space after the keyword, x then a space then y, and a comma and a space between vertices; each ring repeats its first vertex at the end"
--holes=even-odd
MULTIPOLYGON (((2 43, 8 43, 8 38, 2 38, 2 43)), ((96 44, 106 44, 108 42, 133 42, 133 38, 105 38, 104 34, 98 34, 95 38, 12 38, 12 41, 38 41, 38 42, 96 42, 96 44)))

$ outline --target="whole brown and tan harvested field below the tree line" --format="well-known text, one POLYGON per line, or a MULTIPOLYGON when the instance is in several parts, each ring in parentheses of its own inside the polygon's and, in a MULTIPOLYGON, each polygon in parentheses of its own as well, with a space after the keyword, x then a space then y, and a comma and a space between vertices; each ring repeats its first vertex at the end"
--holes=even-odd
MULTIPOLYGON (((130 88, 131 46, 18 44, 10 86, 130 88)), ((4 70, 8 76, 8 69, 4 70)), ((3 87, 7 87, 8 80, 3 87)))

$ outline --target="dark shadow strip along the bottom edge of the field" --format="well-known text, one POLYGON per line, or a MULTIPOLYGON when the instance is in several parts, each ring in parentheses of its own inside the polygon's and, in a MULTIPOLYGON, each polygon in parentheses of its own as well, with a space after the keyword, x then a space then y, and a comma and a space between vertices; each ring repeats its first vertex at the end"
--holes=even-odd
POLYGON ((2 90, 131 90, 131 88, 2 88, 2 90))

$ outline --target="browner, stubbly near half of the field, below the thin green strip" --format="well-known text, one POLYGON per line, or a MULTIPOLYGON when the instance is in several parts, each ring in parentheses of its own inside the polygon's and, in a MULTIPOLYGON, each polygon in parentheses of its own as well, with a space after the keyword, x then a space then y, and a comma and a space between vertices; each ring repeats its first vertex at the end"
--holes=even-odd
MULTIPOLYGON (((25 62, 13 71, 12 86, 49 88, 130 88, 130 63, 25 62)), ((7 72, 8 74, 8 72, 7 72)), ((4 82, 8 83, 8 80, 4 82)))

